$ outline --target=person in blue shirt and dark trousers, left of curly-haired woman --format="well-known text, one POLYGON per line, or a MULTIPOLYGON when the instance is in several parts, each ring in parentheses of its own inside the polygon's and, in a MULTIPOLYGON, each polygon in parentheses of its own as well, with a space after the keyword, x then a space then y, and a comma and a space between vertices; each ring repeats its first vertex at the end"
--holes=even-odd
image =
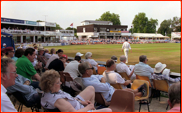
MULTIPOLYGON (((31 81, 21 75, 18 75, 15 79, 15 85, 7 88, 7 93, 14 93, 16 91, 24 94, 27 99, 28 105, 34 105, 37 103, 37 107, 41 109, 40 96, 33 86, 30 86, 31 81)), ((22 98, 22 97, 19 97, 22 98)))

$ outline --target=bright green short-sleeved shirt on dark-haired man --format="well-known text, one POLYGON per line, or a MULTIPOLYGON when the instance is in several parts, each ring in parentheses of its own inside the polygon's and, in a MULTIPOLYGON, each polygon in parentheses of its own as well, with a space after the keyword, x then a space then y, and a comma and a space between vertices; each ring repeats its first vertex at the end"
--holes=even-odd
POLYGON ((17 74, 20 74, 31 81, 31 77, 37 73, 30 60, 24 55, 16 61, 16 67, 17 74))

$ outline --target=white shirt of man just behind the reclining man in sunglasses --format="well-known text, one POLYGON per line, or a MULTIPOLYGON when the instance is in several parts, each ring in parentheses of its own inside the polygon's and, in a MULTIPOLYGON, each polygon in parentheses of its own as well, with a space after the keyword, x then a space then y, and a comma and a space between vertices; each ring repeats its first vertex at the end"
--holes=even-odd
POLYGON ((116 73, 114 71, 110 71, 110 72, 104 71, 103 76, 105 77, 106 81, 109 82, 110 84, 119 83, 121 84, 121 87, 123 89, 127 88, 125 85, 122 85, 125 83, 125 80, 121 77, 119 73, 116 73), (106 75, 106 73, 108 76, 106 75))

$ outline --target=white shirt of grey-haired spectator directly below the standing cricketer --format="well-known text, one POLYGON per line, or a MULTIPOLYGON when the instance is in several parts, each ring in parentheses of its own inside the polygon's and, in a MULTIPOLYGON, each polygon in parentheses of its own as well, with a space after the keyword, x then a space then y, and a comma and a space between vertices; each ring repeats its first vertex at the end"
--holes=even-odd
MULTIPOLYGON (((119 64, 116 65, 116 71, 119 73, 126 72, 126 74, 129 76, 133 70, 130 70, 125 63, 120 62, 119 64)), ((133 80, 135 78, 136 78, 136 75, 133 73, 130 79, 133 80)))

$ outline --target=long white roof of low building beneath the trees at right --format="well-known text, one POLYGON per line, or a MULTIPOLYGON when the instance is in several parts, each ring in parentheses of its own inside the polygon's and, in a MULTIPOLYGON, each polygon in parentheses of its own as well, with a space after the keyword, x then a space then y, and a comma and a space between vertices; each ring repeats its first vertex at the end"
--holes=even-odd
POLYGON ((133 33, 134 37, 163 37, 163 38, 169 38, 168 36, 163 36, 162 34, 157 33, 133 33))

